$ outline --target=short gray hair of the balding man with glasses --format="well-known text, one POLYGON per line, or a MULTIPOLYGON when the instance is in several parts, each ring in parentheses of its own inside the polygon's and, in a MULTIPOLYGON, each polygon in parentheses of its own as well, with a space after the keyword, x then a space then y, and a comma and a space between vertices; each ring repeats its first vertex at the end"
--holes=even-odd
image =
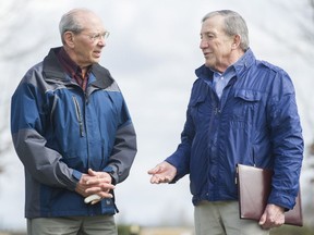
MULTIPOLYGON (((77 13, 82 11, 88 11, 87 9, 74 9, 63 14, 59 23, 59 32, 62 44, 64 45, 63 34, 65 32, 73 32, 75 34, 81 33, 84 28, 77 18, 77 13)), ((88 11, 89 12, 89 11, 88 11)))

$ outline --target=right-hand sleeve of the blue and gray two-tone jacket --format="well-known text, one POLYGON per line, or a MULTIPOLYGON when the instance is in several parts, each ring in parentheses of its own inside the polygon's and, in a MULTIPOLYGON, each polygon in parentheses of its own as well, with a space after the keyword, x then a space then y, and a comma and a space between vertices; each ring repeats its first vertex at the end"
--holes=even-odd
POLYGON ((120 125, 108 165, 104 169, 113 177, 114 184, 123 182, 129 176, 137 151, 135 129, 123 97, 118 119, 120 125))

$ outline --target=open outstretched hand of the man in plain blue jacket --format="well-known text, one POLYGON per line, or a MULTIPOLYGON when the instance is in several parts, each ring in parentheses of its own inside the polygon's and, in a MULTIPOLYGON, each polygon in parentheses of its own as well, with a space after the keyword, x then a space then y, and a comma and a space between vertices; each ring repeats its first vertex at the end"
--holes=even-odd
POLYGON ((168 162, 164 161, 156 165, 154 169, 149 170, 148 174, 152 175, 152 184, 169 183, 174 178, 177 169, 168 162))

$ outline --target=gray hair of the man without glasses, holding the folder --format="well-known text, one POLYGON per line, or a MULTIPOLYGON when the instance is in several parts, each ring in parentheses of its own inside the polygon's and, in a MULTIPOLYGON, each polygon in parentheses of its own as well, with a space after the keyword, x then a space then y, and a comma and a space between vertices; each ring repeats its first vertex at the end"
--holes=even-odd
POLYGON ((237 12, 230 10, 221 10, 221 11, 214 11, 206 14, 202 23, 204 23, 207 18, 221 15, 224 17, 224 30, 229 36, 240 35, 241 42, 240 48, 243 51, 246 51, 249 48, 249 29, 244 18, 237 12))

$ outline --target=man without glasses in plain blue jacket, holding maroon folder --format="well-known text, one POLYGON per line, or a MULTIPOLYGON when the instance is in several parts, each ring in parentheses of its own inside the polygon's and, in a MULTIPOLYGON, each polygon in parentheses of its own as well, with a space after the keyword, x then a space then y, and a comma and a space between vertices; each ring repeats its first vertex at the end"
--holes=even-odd
POLYGON ((255 59, 244 20, 229 10, 203 18, 205 64, 196 70, 177 151, 148 171, 152 183, 190 174, 196 235, 269 234, 299 190, 303 138, 289 75, 255 59), (235 165, 273 169, 259 223, 239 219, 235 165))

